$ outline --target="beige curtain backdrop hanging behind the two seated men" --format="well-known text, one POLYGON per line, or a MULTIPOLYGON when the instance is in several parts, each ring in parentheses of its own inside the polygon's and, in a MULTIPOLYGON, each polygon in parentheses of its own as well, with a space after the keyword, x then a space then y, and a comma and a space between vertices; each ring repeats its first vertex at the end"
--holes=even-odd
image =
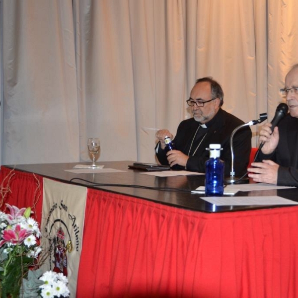
MULTIPOLYGON (((156 162, 155 131, 191 117, 196 78, 243 121, 282 100, 297 0, 0 0, 1 164, 156 162)), ((251 127, 256 136, 258 127, 251 127)), ((257 146, 257 137, 252 145, 257 146)))

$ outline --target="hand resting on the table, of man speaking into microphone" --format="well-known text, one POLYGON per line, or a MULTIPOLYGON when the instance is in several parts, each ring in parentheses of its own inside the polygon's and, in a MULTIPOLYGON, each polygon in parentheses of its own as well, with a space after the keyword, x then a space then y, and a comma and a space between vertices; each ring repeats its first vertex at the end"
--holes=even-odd
POLYGON ((247 169, 248 177, 255 182, 277 184, 277 172, 279 164, 272 160, 253 162, 253 167, 247 169))

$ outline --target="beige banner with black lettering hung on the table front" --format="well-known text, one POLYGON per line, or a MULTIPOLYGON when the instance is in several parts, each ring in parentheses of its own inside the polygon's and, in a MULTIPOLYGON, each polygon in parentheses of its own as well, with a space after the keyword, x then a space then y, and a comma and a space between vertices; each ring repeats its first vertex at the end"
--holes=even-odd
POLYGON ((61 272, 75 297, 82 247, 87 188, 43 179, 42 247, 48 252, 43 271, 61 272))

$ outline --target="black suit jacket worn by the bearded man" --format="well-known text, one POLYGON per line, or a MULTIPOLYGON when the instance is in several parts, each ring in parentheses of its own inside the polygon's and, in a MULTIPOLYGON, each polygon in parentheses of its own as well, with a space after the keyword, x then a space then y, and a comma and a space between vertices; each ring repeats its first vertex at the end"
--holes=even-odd
MULTIPOLYGON (((186 169, 189 171, 205 173, 205 162, 209 159, 209 151, 206 150, 206 148, 209 148, 209 144, 221 144, 223 148, 221 151, 221 159, 224 160, 224 174, 225 176, 230 176, 230 136, 232 131, 242 124, 244 124, 243 121, 220 109, 214 118, 207 123, 207 135, 193 156, 193 150, 191 150, 186 169)), ((173 140, 177 150, 180 150, 184 154, 188 155, 191 142, 198 126, 199 122, 195 121, 194 118, 184 120, 179 124, 177 134, 173 140)), ((194 142, 193 148, 196 148, 199 143, 200 140, 194 142)), ((157 146, 159 146, 159 144, 157 144, 157 146)), ((246 173, 250 150, 251 130, 249 127, 245 127, 236 132, 233 138, 235 176, 240 177, 246 173)), ((156 156, 161 164, 168 164, 166 152, 165 150, 160 149, 160 146, 156 156)), ((176 168, 182 169, 181 166, 176 168)))

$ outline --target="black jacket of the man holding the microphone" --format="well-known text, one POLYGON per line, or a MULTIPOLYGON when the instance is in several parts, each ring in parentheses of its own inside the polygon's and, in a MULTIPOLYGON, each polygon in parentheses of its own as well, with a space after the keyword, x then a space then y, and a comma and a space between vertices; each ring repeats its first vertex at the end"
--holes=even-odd
POLYGON ((288 114, 278 125, 279 143, 272 154, 258 153, 256 161, 271 159, 280 165, 277 185, 298 186, 298 119, 288 114))

